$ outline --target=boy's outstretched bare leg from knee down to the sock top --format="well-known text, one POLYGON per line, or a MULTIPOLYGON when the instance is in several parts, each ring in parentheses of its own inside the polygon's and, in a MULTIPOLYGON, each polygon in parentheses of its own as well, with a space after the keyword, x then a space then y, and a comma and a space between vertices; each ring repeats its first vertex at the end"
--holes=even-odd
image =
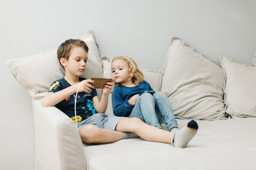
POLYGON ((171 143, 171 132, 147 125, 139 118, 122 118, 116 127, 120 132, 134 132, 151 142, 171 143))

